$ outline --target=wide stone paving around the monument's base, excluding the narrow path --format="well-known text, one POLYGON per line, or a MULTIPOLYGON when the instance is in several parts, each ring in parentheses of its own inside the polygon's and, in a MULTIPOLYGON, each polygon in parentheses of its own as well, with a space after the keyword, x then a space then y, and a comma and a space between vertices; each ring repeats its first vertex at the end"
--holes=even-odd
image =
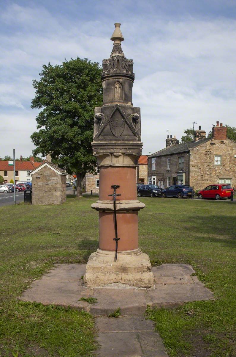
MULTIPOLYGON (((71 306, 90 311, 95 316, 109 315, 120 307, 122 315, 138 315, 151 307, 171 307, 186 301, 209 300, 213 294, 187 264, 162 264, 153 267, 155 289, 96 288, 82 285, 84 264, 56 264, 41 279, 34 281, 20 297, 24 301, 71 306), (79 301, 81 297, 95 297, 93 305, 79 301)), ((115 285, 114 285, 115 286, 115 285)))

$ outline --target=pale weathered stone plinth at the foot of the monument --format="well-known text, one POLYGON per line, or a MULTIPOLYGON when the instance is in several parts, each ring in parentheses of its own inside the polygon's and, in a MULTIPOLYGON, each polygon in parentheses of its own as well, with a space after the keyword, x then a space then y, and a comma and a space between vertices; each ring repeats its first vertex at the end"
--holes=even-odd
POLYGON ((118 252, 98 249, 88 258, 84 284, 101 287, 121 283, 139 288, 153 288, 154 276, 149 256, 140 249, 118 252))

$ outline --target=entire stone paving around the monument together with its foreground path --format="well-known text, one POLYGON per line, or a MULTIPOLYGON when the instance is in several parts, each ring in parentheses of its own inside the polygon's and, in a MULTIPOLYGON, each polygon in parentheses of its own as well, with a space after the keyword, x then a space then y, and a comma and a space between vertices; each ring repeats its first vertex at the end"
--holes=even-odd
POLYGON ((213 294, 192 276, 188 264, 162 264, 153 267, 155 289, 124 288, 117 284, 109 287, 83 286, 85 264, 56 264, 31 288, 24 291, 21 300, 68 306, 86 310, 96 318, 99 357, 164 357, 168 356, 153 322, 143 313, 151 307, 178 306, 186 301, 209 300, 213 294), (94 297, 90 305, 81 297, 94 297), (121 317, 107 317, 120 308, 121 317))

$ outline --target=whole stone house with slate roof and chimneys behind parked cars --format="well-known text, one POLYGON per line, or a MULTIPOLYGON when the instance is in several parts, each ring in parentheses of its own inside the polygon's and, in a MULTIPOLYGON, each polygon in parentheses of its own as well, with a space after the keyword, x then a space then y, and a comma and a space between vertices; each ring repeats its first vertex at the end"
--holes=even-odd
POLYGON ((195 190, 211 183, 235 186, 236 142, 227 138, 226 132, 227 128, 217 121, 212 137, 206 138, 199 127, 193 141, 179 144, 175 137, 167 138, 165 149, 148 157, 148 183, 163 188, 185 184, 195 190))

